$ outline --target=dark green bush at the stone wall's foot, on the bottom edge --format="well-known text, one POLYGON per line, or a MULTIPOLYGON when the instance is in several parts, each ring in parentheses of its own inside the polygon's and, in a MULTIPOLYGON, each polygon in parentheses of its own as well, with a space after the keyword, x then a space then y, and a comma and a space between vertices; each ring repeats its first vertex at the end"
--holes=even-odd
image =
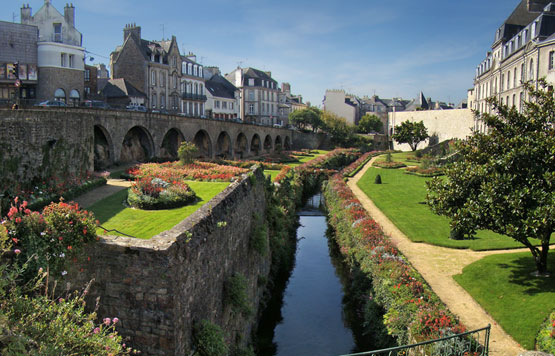
POLYGON ((196 346, 195 355, 226 356, 229 352, 222 329, 208 320, 195 324, 193 338, 196 346))

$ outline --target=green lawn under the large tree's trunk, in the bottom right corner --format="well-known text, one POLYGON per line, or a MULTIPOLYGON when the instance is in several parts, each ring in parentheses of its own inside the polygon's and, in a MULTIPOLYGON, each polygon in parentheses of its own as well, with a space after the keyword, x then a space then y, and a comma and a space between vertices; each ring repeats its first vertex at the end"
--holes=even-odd
POLYGON ((525 349, 533 350, 540 324, 555 309, 555 252, 551 277, 533 277, 532 255, 510 253, 484 257, 453 278, 525 349))

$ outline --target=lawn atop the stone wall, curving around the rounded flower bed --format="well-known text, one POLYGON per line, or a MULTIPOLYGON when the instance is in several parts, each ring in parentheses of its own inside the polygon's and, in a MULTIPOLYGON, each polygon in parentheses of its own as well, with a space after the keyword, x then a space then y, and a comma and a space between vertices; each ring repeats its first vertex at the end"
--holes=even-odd
MULTIPOLYGON (((93 204, 91 210, 100 224, 106 229, 116 229, 127 235, 149 239, 162 231, 174 227, 181 220, 194 213, 198 208, 224 190, 228 182, 194 182, 187 184, 195 191, 199 201, 177 209, 139 210, 127 208, 123 202, 127 199, 127 189, 122 190, 93 204)), ((98 229, 103 234, 103 229, 98 229)), ((120 235, 110 232, 110 235, 120 235)))

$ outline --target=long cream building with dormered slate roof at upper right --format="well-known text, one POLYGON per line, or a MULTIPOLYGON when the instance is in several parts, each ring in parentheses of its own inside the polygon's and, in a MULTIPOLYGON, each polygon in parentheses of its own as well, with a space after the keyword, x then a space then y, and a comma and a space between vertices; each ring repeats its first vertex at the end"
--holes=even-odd
MULTIPOLYGON (((474 88, 468 92, 468 107, 491 112, 486 101, 495 97, 522 110, 527 99, 522 83, 545 77, 555 82, 555 3, 522 0, 495 31, 491 50, 476 68, 474 88)), ((476 119, 474 129, 485 131, 476 119)))

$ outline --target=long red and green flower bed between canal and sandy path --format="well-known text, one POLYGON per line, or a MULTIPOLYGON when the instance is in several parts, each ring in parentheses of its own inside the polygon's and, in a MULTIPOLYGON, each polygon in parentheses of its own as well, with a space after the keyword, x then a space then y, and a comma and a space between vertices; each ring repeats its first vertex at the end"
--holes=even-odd
POLYGON ((424 278, 368 216, 342 175, 336 174, 328 181, 324 196, 341 253, 347 263, 359 266, 372 280, 369 299, 386 310, 384 323, 389 334, 404 344, 464 331, 424 278))

